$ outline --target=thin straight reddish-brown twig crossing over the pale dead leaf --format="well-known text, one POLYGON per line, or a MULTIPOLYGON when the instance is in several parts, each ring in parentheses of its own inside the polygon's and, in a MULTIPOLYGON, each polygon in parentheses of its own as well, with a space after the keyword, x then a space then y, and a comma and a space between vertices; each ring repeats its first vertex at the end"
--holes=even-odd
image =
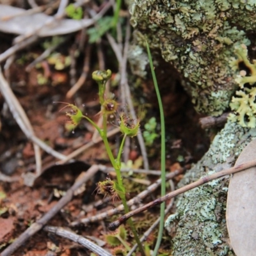
POLYGON ((143 205, 143 206, 139 207, 138 209, 135 209, 134 211, 128 212, 127 214, 121 216, 118 220, 110 223, 108 228, 109 228, 109 230, 116 230, 116 228, 118 228, 120 225, 122 225, 122 223, 127 221, 129 218, 131 218, 135 214, 138 214, 139 212, 146 211, 147 209, 149 209, 151 207, 162 204, 163 202, 165 202, 166 200, 168 200, 170 198, 173 198, 174 196, 180 195, 186 191, 189 191, 190 189, 201 186, 207 182, 210 182, 211 180, 215 180, 215 179, 218 179, 225 175, 230 175, 232 173, 240 172, 242 170, 251 168, 252 166, 255 166, 255 165, 256 165, 256 160, 248 162, 248 163, 244 163, 244 164, 239 164, 239 165, 229 168, 227 170, 223 170, 221 172, 217 172, 212 175, 205 176, 191 184, 188 184, 187 186, 184 186, 184 187, 179 188, 179 189, 177 189, 171 193, 168 193, 162 197, 159 197, 156 200, 154 200, 146 205, 143 205))

